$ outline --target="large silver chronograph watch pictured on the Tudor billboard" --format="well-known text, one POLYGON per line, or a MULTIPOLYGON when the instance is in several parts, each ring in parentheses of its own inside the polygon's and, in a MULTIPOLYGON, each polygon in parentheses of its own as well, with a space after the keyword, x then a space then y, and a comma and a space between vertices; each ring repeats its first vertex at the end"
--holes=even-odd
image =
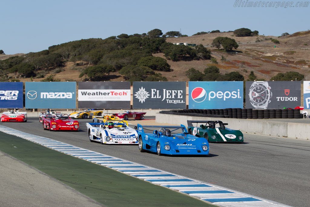
POLYGON ((272 92, 267 81, 254 81, 249 90, 249 98, 255 109, 267 109, 272 92))

